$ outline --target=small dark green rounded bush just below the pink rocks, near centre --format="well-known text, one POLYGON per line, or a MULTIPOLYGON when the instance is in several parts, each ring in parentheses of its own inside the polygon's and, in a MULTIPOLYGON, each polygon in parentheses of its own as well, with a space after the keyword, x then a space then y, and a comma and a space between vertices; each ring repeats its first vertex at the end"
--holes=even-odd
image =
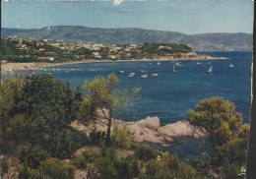
POLYGON ((136 149, 135 156, 138 159, 148 161, 150 159, 157 158, 157 151, 155 149, 152 149, 151 147, 141 146, 138 149, 136 149))

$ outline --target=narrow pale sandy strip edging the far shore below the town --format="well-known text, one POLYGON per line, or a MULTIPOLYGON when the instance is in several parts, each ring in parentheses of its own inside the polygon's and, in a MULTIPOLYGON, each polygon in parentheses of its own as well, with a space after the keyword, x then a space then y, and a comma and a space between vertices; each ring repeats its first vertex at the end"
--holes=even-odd
POLYGON ((211 57, 208 55, 198 55, 195 58, 169 58, 169 57, 162 57, 158 59, 132 59, 132 60, 95 60, 95 59, 86 59, 80 61, 68 61, 68 62, 58 62, 58 63, 47 63, 47 62, 28 62, 28 63, 1 63, 1 74, 8 74, 13 72, 20 72, 20 71, 33 71, 38 70, 45 67, 52 67, 52 66, 61 66, 61 65, 71 65, 71 64, 83 64, 83 63, 102 63, 102 62, 150 62, 150 61, 205 61, 205 60, 228 60, 225 57, 211 57))

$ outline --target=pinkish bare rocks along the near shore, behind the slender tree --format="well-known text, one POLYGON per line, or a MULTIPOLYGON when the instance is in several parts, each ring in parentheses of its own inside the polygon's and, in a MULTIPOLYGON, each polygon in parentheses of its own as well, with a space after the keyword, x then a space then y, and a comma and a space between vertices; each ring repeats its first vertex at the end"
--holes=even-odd
MULTIPOLYGON (((159 117, 147 117, 137 122, 124 122, 113 119, 113 125, 118 125, 122 129, 129 130, 134 142, 152 143, 162 148, 170 148, 169 143, 175 142, 175 138, 192 137, 203 139, 209 136, 208 132, 201 127, 193 126, 187 121, 160 126, 159 117)), ((96 131, 106 131, 107 126, 100 124, 89 124, 84 126, 77 121, 72 122, 72 127, 90 134, 95 128, 96 131)))

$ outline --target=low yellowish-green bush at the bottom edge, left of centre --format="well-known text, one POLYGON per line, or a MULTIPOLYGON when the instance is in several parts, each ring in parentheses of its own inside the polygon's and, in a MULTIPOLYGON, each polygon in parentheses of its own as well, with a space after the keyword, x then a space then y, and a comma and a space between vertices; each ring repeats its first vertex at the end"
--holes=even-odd
POLYGON ((57 158, 48 158, 41 162, 40 173, 44 177, 70 179, 74 177, 74 167, 65 165, 57 158))

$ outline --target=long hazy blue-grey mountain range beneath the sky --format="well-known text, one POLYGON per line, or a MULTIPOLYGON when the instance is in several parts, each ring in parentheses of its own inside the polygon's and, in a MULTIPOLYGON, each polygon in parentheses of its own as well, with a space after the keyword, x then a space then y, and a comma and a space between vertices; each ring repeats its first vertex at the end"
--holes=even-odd
POLYGON ((2 37, 34 37, 36 39, 66 40, 83 43, 126 44, 145 42, 184 43, 193 50, 252 50, 252 33, 203 33, 188 35, 182 32, 142 29, 97 29, 79 26, 56 26, 42 29, 17 30, 2 28, 2 37))

